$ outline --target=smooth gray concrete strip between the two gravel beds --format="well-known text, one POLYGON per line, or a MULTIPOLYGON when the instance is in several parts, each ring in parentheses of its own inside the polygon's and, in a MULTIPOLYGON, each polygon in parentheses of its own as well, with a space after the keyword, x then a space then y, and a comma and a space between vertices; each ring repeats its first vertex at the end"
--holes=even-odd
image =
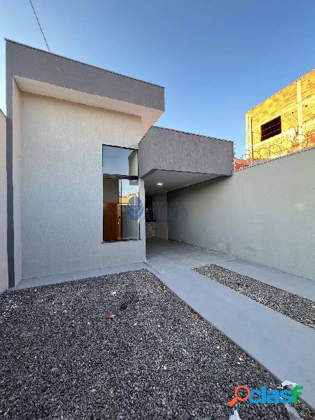
POLYGON ((315 331, 192 269, 160 279, 279 379, 303 386, 315 409, 315 331))

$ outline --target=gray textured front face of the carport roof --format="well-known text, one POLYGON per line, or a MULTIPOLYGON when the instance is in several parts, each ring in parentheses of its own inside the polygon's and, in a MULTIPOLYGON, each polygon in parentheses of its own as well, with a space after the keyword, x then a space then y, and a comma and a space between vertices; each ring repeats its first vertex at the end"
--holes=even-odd
POLYGON ((234 143, 151 127, 139 144, 139 174, 152 170, 232 175, 234 143))

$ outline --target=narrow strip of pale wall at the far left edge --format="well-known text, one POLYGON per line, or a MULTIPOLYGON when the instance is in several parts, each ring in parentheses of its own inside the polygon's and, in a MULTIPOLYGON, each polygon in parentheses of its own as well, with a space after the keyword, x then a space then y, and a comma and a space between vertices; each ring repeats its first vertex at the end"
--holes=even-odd
POLYGON ((6 229, 6 117, 0 110, 0 293, 8 288, 6 229))

